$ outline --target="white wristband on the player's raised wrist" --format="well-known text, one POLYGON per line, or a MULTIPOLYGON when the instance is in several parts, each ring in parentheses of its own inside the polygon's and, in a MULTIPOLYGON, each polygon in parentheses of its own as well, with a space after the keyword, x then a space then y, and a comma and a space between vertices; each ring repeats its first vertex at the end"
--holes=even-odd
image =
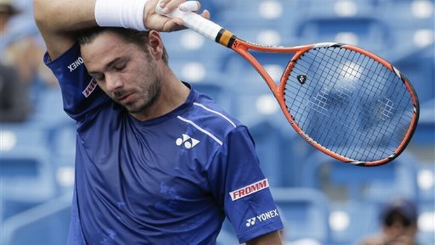
POLYGON ((144 10, 149 0, 97 0, 95 21, 100 27, 125 27, 145 31, 144 10))

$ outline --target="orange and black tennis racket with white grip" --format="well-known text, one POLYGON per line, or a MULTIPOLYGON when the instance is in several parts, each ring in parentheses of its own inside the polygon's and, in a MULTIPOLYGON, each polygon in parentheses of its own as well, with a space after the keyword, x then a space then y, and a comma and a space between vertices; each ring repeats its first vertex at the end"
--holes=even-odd
MULTIPOLYGON (((159 5, 156 12, 163 14, 159 5)), ((230 48, 265 80, 290 125, 319 151, 360 166, 383 165, 408 145, 420 113, 410 81, 381 57, 342 43, 294 47, 244 41, 215 22, 178 9, 166 14, 230 48), (288 53, 279 83, 253 52, 288 53)))

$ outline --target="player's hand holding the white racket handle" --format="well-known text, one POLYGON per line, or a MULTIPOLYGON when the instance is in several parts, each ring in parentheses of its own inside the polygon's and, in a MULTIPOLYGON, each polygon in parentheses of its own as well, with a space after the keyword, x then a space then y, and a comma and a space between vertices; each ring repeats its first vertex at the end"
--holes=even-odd
MULTIPOLYGON (((145 5, 145 26, 148 29, 154 29, 156 31, 178 31, 180 29, 186 29, 183 26, 183 20, 180 18, 168 18, 164 15, 156 13, 156 6, 159 0, 151 0, 145 5)), ((182 11, 193 11, 197 12, 201 8, 201 3, 199 1, 186 1, 186 0, 162 0, 161 7, 163 11, 170 13, 170 11, 175 8, 180 8, 182 11), (196 3, 196 4, 195 4, 196 3), (195 7, 196 5, 196 7, 195 7)), ((210 13, 208 10, 204 10, 201 13, 203 18, 209 19, 210 13)))

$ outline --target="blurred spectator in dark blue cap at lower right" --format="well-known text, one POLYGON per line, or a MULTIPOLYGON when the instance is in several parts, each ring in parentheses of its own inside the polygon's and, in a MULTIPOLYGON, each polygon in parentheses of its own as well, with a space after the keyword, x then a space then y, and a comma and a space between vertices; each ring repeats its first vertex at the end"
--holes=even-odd
POLYGON ((359 245, 416 245, 417 207, 403 198, 391 200, 382 211, 382 230, 359 242, 359 245))

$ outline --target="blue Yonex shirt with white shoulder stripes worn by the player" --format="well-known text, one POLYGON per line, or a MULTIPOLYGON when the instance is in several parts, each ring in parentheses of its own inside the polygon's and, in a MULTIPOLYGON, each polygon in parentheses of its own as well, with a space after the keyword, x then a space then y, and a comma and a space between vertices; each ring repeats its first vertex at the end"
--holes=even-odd
POLYGON ((139 121, 88 75, 79 45, 44 61, 77 125, 69 245, 215 244, 225 216, 241 243, 283 228, 247 128, 209 97, 191 89, 139 121))

